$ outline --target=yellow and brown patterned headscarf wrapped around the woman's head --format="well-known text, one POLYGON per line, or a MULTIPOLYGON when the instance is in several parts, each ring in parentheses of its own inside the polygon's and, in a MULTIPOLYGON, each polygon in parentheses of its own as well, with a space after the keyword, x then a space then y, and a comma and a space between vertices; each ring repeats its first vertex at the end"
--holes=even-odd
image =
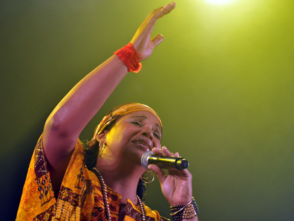
POLYGON ((127 114, 127 113, 132 113, 136 111, 147 111, 152 113, 154 116, 157 117, 157 119, 160 122, 160 127, 162 128, 162 123, 155 111, 148 107, 147 105, 139 104, 139 103, 125 103, 122 105, 117 106, 116 108, 112 109, 109 111, 107 115, 103 117, 101 122, 98 124, 98 126, 95 129, 94 136, 92 139, 96 139, 97 136, 103 132, 105 127, 110 125, 112 122, 115 122, 117 119, 119 119, 121 116, 127 114))

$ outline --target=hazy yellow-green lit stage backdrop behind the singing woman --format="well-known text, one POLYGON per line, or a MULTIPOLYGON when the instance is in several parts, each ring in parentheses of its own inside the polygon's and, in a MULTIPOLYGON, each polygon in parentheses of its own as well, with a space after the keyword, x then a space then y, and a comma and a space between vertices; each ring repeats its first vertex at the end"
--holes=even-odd
MULTIPOLYGON (((1 220, 15 219, 49 113, 167 3, 0 2, 1 220)), ((176 3, 153 31, 165 40, 80 138, 113 107, 147 104, 163 121, 162 144, 190 162, 200 221, 294 220, 294 1, 176 3)), ((146 203, 170 218, 156 182, 146 203)))

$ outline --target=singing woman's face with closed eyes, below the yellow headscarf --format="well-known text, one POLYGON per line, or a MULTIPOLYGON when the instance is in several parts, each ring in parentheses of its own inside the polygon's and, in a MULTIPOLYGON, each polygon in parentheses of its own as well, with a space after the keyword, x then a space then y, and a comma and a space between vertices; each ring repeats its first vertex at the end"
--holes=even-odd
POLYGON ((161 147, 161 136, 160 122, 152 113, 128 113, 110 131, 106 131, 104 139, 107 148, 104 154, 113 159, 138 162, 146 151, 161 147))

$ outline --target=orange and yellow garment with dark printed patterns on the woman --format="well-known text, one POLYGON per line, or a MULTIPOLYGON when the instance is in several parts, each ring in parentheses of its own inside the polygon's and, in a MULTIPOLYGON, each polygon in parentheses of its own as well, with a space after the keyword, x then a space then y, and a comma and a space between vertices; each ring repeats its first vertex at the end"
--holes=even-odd
MULTIPOLYGON (((107 187, 113 221, 118 221, 121 195, 107 187)), ((144 204, 146 221, 167 221, 144 204)), ((33 153, 16 221, 107 221, 101 187, 95 173, 84 164, 84 150, 78 140, 64 175, 57 201, 43 152, 42 136, 33 153)), ((127 200, 124 221, 141 221, 140 206, 127 200)))

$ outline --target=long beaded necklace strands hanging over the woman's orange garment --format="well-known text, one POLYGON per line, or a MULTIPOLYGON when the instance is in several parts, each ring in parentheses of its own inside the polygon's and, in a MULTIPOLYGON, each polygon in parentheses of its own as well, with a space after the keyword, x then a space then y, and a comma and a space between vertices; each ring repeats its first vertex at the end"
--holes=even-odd
MULTIPOLYGON (((96 167, 93 167, 91 169, 97 176, 99 182, 100 182, 100 186, 101 186, 101 192, 102 192, 102 196, 103 196, 103 201, 104 201, 104 207, 105 207, 105 210, 106 210, 106 219, 108 221, 112 221, 112 218, 110 216, 110 209, 109 209, 109 202, 108 202, 108 199, 107 199, 107 193, 106 193, 106 184, 104 182, 104 179, 100 173, 100 171, 96 168, 96 167)), ((145 210, 144 210, 144 205, 143 205, 143 202, 142 200, 140 199, 140 197, 137 195, 137 200, 140 204, 140 207, 141 207, 141 211, 142 211, 142 221, 146 221, 146 214, 145 214, 145 210)))

